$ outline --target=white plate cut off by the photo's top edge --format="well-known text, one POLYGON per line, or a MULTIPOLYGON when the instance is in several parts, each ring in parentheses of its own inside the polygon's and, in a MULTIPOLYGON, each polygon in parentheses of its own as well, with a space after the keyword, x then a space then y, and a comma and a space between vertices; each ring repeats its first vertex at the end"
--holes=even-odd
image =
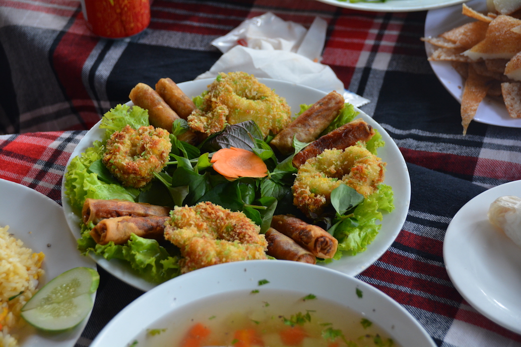
POLYGON ((426 11, 433 8, 441 8, 452 6, 455 4, 464 3, 467 0, 387 0, 384 3, 380 2, 357 2, 350 3, 347 1, 338 0, 317 0, 321 3, 351 8, 361 11, 372 12, 414 12, 426 11))

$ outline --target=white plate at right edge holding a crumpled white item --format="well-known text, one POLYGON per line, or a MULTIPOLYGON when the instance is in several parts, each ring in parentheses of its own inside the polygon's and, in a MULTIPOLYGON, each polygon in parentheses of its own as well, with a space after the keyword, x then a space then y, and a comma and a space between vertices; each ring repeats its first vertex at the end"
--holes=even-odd
POLYGON ((521 197, 521 181, 483 191, 452 219, 443 241, 445 268, 460 294, 482 315, 521 333, 521 247, 489 222, 490 204, 521 197))

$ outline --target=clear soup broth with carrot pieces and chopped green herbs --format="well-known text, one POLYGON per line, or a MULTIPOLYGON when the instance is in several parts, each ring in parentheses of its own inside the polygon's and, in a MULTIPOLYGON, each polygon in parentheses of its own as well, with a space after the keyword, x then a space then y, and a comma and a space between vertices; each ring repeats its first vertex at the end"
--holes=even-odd
POLYGON ((348 307, 299 292, 259 289, 180 306, 143 330, 132 347, 396 346, 348 307))

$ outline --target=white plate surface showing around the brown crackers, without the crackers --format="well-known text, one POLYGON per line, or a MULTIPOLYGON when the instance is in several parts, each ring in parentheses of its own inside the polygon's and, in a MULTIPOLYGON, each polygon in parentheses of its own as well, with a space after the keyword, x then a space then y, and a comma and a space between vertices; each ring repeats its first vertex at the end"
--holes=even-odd
MULTIPOLYGON (((486 0, 473 0, 466 5, 477 11, 484 12, 487 10, 486 0)), ((461 5, 429 11, 425 19, 424 36, 436 37, 445 31, 473 21, 473 19, 462 15, 461 11, 461 5)), ((427 56, 430 57, 434 48, 431 44, 425 43, 425 50, 427 56)), ((461 75, 452 68, 448 61, 429 61, 429 63, 441 84, 456 100, 461 102, 464 85, 461 75)), ((489 97, 483 99, 479 104, 474 120, 491 125, 521 127, 521 119, 510 117, 502 101, 493 100, 489 97)))

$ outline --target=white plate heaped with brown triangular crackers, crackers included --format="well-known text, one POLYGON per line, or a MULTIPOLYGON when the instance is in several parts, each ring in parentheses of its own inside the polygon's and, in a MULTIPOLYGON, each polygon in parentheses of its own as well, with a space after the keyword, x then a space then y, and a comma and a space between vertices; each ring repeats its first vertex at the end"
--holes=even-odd
POLYGON ((427 13, 422 40, 428 60, 461 103, 464 135, 473 120, 521 127, 520 18, 521 3, 504 0, 473 0, 427 13))

